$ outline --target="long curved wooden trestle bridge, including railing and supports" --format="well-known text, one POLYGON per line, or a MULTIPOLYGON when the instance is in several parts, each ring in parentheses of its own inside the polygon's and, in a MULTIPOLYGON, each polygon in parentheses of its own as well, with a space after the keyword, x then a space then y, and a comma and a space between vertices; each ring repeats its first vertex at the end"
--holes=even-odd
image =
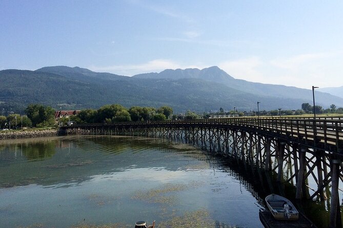
POLYGON ((123 122, 74 125, 65 130, 67 134, 152 136, 201 143, 210 150, 277 172, 277 181, 295 186, 296 199, 331 198, 330 227, 341 227, 338 191, 343 182, 342 117, 123 122), (291 175, 285 175, 287 167, 291 167, 291 175), (306 184, 310 177, 315 189, 306 184), (330 186, 331 195, 326 195, 330 186))

